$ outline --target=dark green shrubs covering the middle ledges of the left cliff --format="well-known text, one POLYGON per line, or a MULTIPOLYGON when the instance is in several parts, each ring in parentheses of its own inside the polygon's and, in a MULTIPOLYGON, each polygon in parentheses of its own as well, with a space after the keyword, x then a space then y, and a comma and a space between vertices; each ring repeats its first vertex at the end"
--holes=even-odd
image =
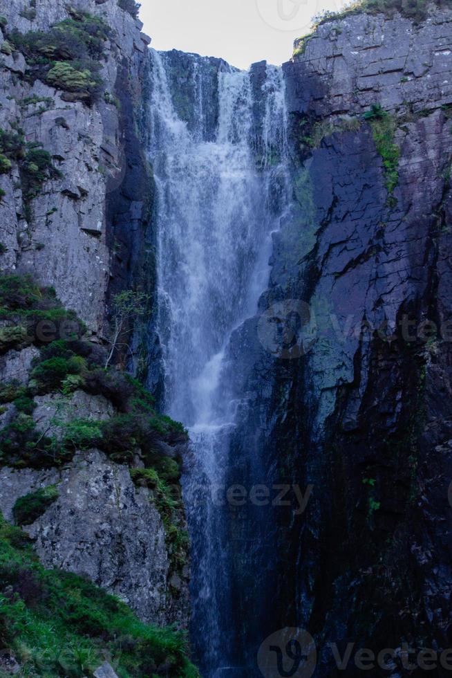
MULTIPOLYGON (((129 303, 135 296, 126 295, 129 303)), ((84 338, 85 327, 75 313, 59 304, 52 288, 41 288, 29 276, 0 277, 0 320, 15 324, 0 331, 0 345, 32 343, 40 347, 28 385, 4 383, 0 405, 13 403, 16 416, 0 430, 0 465, 13 468, 52 468, 67 464, 77 450, 98 448, 113 461, 135 464, 139 455, 144 469, 132 469, 135 484, 151 489, 162 515, 172 571, 180 573, 187 558, 187 533, 180 495, 180 459, 165 457, 162 443, 176 446, 187 440, 182 424, 158 413, 153 396, 129 374, 104 367, 108 351, 84 338), (44 323, 46 331, 41 331, 44 323), (60 323, 60 324, 59 324, 60 323), (59 336, 65 329, 64 338, 59 336), (4 336, 2 334, 4 333, 4 336), (115 407, 105 421, 58 414, 48 431, 37 430, 32 417, 34 396, 57 392, 62 406, 70 407, 75 390, 102 395, 115 407), (55 434, 59 429, 59 435, 55 434)), ((17 507, 30 515, 46 497, 25 497, 17 507), (22 504, 25 504, 23 506, 22 504)), ((23 522, 23 517, 17 521, 23 522)), ((28 520, 28 518, 25 518, 28 520)))

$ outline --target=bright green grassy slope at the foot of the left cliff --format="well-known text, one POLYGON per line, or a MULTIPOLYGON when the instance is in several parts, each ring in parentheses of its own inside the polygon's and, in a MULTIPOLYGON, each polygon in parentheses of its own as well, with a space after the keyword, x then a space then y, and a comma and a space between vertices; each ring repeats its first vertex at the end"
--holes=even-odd
POLYGON ((0 643, 23 675, 82 678, 105 659, 120 678, 196 678, 185 636, 138 621, 84 578, 46 570, 0 517, 0 643))

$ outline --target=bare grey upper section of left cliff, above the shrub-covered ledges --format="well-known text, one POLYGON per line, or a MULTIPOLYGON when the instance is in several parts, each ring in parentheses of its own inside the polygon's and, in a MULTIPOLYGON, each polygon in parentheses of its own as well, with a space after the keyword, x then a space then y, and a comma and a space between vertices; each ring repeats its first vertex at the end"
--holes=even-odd
MULTIPOLYGON (((144 190, 145 178, 136 181, 137 170, 146 177, 147 167, 135 129, 150 40, 140 33, 142 24, 115 0, 76 1, 72 8, 102 17, 112 29, 102 57, 106 94, 102 91, 93 105, 28 77, 21 51, 1 55, 1 127, 10 129, 14 123, 23 129, 26 140, 41 143, 62 174, 32 200, 32 217, 23 204, 17 167, 1 176, 6 192, 0 205, 6 226, 1 266, 33 271, 94 333, 102 333, 109 284, 119 287, 117 278, 129 282, 132 249, 143 256, 140 244, 149 221, 145 202, 150 192, 144 190)), ((71 16, 62 0, 40 1, 28 10, 21 3, 2 2, 0 12, 6 18, 3 45, 13 30, 46 32, 71 16)))

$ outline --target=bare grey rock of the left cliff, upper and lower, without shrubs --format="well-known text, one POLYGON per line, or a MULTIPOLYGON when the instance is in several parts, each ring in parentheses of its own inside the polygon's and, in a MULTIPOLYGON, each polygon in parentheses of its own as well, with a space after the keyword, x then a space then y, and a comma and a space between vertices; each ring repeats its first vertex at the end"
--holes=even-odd
MULTIPOLYGON (((29 8, 1 1, 0 15, 0 128, 10 135, 10 146, 15 145, 13 153, 2 137, 2 158, 8 164, 0 176, 1 272, 29 273, 40 286, 52 286, 62 305, 86 324, 85 336, 96 344, 107 331, 106 313, 113 295, 124 288, 140 288, 148 295, 147 303, 153 302, 149 235, 153 186, 142 142, 150 39, 140 32, 140 21, 122 10, 117 0, 75 0, 71 6, 63 0, 39 0, 29 8), (30 31, 45 36, 54 26, 62 26, 72 49, 80 43, 77 31, 86 17, 93 30, 99 28, 93 23, 95 17, 102 19, 101 30, 108 27, 108 37, 101 37, 99 91, 92 98, 84 91, 92 83, 85 82, 83 73, 81 84, 62 80, 61 86, 51 86, 49 59, 44 57, 42 64, 42 45, 51 41, 44 38, 36 59, 32 43, 23 39, 30 31), (47 70, 38 73, 36 69, 43 67, 47 70), (45 166, 32 165, 30 153, 35 149, 47 152, 45 166), (38 170, 42 176, 33 180, 30 191, 30 176, 38 170)), ((47 48, 55 59, 53 46, 47 48)), ((97 67, 92 59, 80 66, 77 77, 83 68, 92 68, 94 81, 97 67)), ((23 318, 2 320, 2 328, 17 322, 21 324, 23 318)), ((135 374, 146 376, 142 330, 135 327, 131 367, 135 374)), ((3 389, 11 383, 28 389, 39 349, 68 338, 60 331, 61 324, 50 322, 47 338, 37 331, 23 344, 2 345, 3 389)), ((30 425, 43 436, 58 439, 62 433, 54 420, 62 412, 65 424, 72 419, 113 421, 124 412, 108 394, 70 391, 68 400, 68 394, 62 396, 51 388, 39 395, 31 389, 28 395, 35 396, 35 410, 30 425)), ((3 428, 21 415, 7 402, 1 416, 3 428)), ((136 442, 130 444, 135 457, 128 464, 93 445, 77 450, 63 466, 21 468, 27 462, 15 468, 4 466, 0 508, 12 520, 17 500, 56 485, 58 499, 26 527, 41 562, 88 576, 120 596, 146 622, 186 627, 188 566, 174 566, 171 554, 177 547, 169 541, 171 519, 164 524, 167 517, 156 508, 156 491, 147 482, 132 482, 130 467, 142 468, 144 463, 136 442)), ((163 456, 180 459, 180 448, 171 448, 163 439, 162 446, 163 456)), ((177 479, 173 482, 177 484, 177 479)), ((183 527, 183 509, 174 510, 176 522, 183 527)))

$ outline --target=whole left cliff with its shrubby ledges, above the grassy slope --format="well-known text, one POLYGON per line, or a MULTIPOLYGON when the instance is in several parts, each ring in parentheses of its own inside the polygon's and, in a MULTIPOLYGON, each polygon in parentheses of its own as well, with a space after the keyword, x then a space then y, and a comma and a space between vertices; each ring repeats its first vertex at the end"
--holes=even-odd
MULTIPOLYGON (((142 331, 154 280, 153 185, 142 143, 150 39, 135 14, 135 3, 117 0, 0 3, 0 509, 30 535, 44 567, 88 577, 144 622, 185 628, 185 433, 169 434, 173 424, 159 419, 149 394, 104 369, 102 348, 115 295, 139 290, 144 320, 124 328, 128 349, 115 358, 145 378, 142 331), (71 343, 77 337, 84 347, 71 343), (43 363, 53 377, 37 385, 43 363), (106 391, 88 387, 93 369, 110 380, 106 391), (79 437, 80 426, 97 427, 97 441, 79 437), (113 439, 102 444, 102 426, 126 431, 122 452, 115 455, 113 439), (153 441, 153 461, 142 456, 140 436, 153 441)), ((3 647, 19 647, 20 633, 13 645, 10 634, 0 636, 3 647)), ((28 661, 37 670, 34 652, 28 661)), ((165 673, 176 670, 169 654, 160 656, 165 673)), ((137 664, 133 675, 158 665, 139 672, 137 664)))

